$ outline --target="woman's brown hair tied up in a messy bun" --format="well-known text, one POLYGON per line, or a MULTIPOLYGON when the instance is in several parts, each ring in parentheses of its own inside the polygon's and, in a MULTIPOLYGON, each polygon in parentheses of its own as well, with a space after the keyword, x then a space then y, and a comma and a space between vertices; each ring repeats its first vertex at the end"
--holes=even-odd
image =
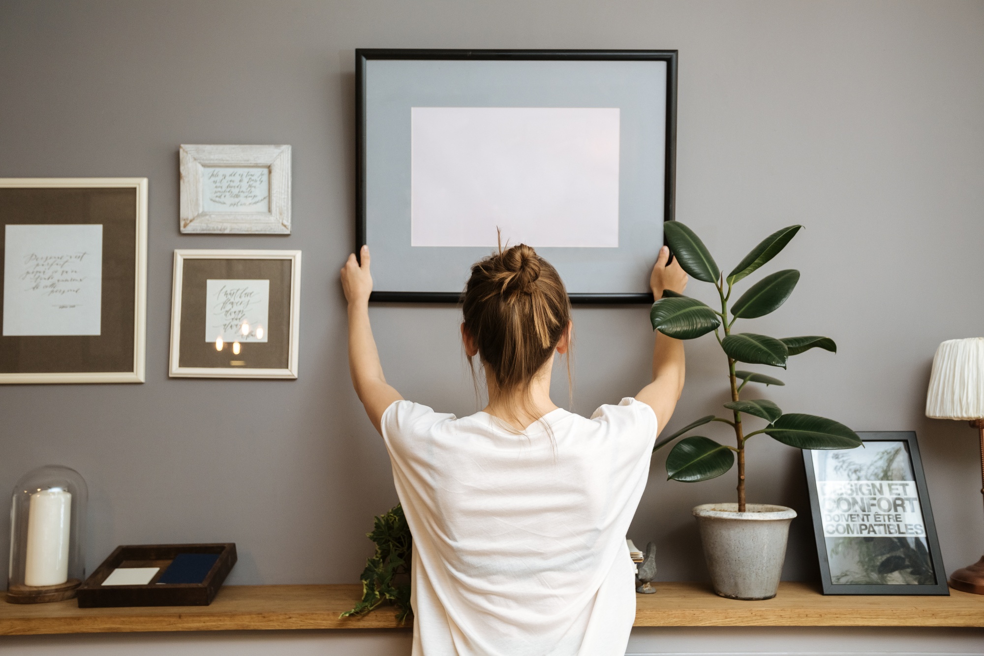
MULTIPOLYGON (((507 412, 516 418, 518 411, 531 411, 529 384, 571 322, 571 301, 557 270, 530 246, 500 245, 498 253, 471 267, 461 300, 464 330, 495 377, 497 390, 489 390, 489 401, 493 393, 512 398, 519 391, 521 401, 507 412)), ((570 357, 567 375, 570 383, 570 357)))

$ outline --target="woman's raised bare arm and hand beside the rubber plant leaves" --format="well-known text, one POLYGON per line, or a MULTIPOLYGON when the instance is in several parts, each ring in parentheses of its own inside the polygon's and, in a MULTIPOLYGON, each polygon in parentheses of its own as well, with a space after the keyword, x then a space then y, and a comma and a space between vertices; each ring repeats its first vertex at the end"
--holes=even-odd
MULTIPOLYGON (((656 300, 662 297, 664 290, 682 294, 687 289, 687 274, 676 258, 666 266, 669 256, 669 248, 660 248, 649 276, 649 287, 656 300)), ((683 392, 684 363, 683 342, 656 331, 656 343, 652 348, 652 382, 636 395, 636 399, 652 408, 659 430, 670 421, 683 392)))

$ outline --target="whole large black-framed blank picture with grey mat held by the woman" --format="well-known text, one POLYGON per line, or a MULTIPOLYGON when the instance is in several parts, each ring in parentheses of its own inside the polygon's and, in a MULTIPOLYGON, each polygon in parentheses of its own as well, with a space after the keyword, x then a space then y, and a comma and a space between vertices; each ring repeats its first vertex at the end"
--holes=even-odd
POLYGON ((574 302, 652 302, 676 50, 358 49, 355 64, 372 300, 457 302, 501 240, 536 248, 574 302))

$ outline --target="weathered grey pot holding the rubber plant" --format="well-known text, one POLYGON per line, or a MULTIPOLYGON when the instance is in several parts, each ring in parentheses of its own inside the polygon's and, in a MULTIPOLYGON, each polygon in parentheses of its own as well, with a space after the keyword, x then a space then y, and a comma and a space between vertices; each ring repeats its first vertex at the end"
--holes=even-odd
POLYGON ((782 505, 706 503, 694 508, 714 592, 730 599, 771 599, 786 558, 789 522, 782 505))

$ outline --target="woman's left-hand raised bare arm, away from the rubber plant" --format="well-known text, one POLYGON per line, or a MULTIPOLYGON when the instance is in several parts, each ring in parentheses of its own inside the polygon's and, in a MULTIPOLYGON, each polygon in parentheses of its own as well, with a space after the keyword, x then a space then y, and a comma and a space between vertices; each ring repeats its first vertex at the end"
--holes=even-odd
POLYGON ((361 266, 352 253, 341 268, 341 289, 348 301, 348 372, 369 420, 382 434, 383 413, 403 397, 386 382, 369 325, 369 295, 372 293, 369 246, 362 246, 360 259, 361 266))

